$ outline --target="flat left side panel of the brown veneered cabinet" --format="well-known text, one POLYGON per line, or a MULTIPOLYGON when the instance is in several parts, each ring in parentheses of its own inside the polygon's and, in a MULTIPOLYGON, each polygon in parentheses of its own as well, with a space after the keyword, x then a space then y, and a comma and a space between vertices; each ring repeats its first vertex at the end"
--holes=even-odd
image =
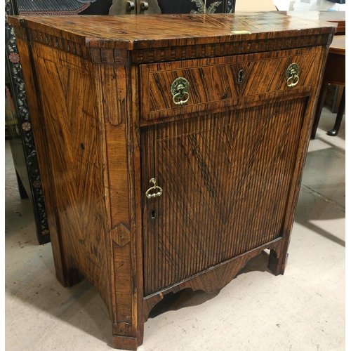
POLYGON ((50 170, 45 191, 55 208, 65 267, 77 268, 110 305, 104 167, 91 67, 69 53, 40 44, 32 48, 41 101, 39 133, 47 140, 42 164, 50 170))

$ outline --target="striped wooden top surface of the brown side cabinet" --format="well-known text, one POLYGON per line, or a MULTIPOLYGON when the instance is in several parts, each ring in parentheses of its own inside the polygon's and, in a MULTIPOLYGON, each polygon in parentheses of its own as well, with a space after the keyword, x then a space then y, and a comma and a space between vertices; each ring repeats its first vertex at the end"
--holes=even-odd
POLYGON ((88 47, 133 50, 331 33, 336 24, 278 12, 211 15, 8 16, 15 26, 88 47))

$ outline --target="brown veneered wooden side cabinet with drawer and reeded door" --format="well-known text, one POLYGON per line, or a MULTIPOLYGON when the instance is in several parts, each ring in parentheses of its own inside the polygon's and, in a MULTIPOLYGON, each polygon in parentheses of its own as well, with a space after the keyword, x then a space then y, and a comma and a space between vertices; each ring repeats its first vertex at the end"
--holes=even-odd
MULTIPOLYGON (((166 293, 283 274, 335 27, 279 13, 30 16, 15 28, 53 256, 114 347, 166 293)), ((234 298, 234 296, 233 296, 234 298)))

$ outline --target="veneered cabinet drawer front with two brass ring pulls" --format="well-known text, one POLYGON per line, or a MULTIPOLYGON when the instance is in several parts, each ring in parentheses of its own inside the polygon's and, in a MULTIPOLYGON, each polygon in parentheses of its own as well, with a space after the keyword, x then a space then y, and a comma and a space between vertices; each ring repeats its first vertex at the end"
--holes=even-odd
MULTIPOLYGON (((307 93, 316 77, 317 49, 141 65, 140 90, 147 97, 141 99, 141 119, 150 121, 213 110, 276 98, 279 93, 307 93), (299 67, 298 82, 289 87, 286 70, 294 62, 299 67), (188 91, 181 99, 171 92, 173 82, 180 77, 189 82, 188 91), (181 100, 187 102, 177 105, 181 100)), ((296 83, 297 79, 293 81, 296 83)))

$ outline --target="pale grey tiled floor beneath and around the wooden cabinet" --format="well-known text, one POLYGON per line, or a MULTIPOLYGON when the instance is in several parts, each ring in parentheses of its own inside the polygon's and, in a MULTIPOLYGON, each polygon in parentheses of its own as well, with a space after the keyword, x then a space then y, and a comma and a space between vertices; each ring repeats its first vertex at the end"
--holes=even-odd
MULTIPOLYGON (((267 270, 263 251, 216 293, 167 298, 152 311, 138 350, 345 350, 345 118, 330 137, 335 116, 324 108, 310 142, 284 276, 267 270)), ((112 350, 98 292, 86 280, 63 288, 51 244, 37 244, 8 141, 5 181, 6 350, 112 350)))

